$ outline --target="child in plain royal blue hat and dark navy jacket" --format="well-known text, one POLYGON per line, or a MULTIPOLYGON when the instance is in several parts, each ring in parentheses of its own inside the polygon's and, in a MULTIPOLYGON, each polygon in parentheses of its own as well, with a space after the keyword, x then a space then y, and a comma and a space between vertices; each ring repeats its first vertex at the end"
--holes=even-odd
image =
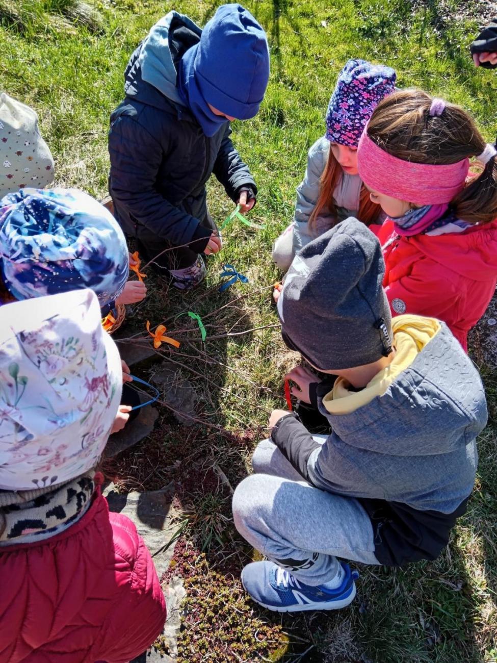
POLYGON ((131 56, 126 97, 111 115, 109 192, 125 233, 177 288, 199 284, 200 254, 221 249, 205 202, 211 174, 242 212, 254 206, 230 122, 256 115, 268 78, 266 34, 236 4, 203 30, 171 11, 131 56))

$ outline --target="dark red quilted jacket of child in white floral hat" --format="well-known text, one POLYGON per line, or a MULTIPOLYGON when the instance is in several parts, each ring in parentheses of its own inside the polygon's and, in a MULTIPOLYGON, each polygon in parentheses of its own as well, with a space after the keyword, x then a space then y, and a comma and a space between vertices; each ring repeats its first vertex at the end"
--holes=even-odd
POLYGON ((61 534, 0 548, 0 587, 2 663, 125 663, 166 619, 137 528, 99 493, 61 534))

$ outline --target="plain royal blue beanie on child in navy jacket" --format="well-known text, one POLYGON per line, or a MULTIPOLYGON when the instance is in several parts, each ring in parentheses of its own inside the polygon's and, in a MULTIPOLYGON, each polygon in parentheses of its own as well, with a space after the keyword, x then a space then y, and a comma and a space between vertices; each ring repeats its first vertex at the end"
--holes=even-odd
POLYGON ((241 120, 257 115, 269 80, 269 50, 266 33, 247 9, 217 9, 202 30, 193 72, 203 98, 217 110, 241 120))

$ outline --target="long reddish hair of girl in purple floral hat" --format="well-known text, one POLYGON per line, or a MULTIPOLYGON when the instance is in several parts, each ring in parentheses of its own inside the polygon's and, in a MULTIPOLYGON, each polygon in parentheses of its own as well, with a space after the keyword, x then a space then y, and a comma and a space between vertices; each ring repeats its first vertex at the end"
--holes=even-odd
MULTIPOLYGON (((315 226, 315 219, 321 214, 321 212, 326 211, 331 215, 336 213, 333 192, 335 191, 335 188, 337 188, 342 174, 343 170, 339 162, 335 159, 335 156, 333 156, 333 152, 330 148, 326 167, 319 179, 319 197, 317 198, 314 209, 309 216, 309 227, 313 228, 315 226)), ((364 184, 362 184, 359 194, 359 211, 357 212, 359 220, 362 221, 362 223, 369 225, 378 218, 381 211, 380 206, 372 202, 368 190, 364 184)), ((333 225, 337 225, 337 223, 338 219, 335 220, 333 225)))

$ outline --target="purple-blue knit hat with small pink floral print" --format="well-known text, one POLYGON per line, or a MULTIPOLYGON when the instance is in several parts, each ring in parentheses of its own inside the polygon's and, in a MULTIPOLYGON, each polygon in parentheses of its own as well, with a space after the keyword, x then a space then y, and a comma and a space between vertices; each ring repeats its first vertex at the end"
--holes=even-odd
POLYGON ((372 112, 395 90, 396 78, 394 70, 384 64, 349 60, 329 100, 325 138, 331 143, 357 147, 372 112))

